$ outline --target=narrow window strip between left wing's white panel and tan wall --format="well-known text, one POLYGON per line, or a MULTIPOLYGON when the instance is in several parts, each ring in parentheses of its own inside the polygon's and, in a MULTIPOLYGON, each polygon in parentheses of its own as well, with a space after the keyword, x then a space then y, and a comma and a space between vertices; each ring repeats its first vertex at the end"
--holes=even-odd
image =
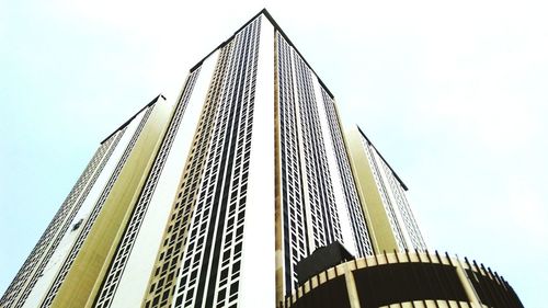
POLYGON ((93 226, 93 223, 95 221, 96 217, 101 213, 101 209, 106 201, 106 197, 109 196, 109 193, 111 192, 111 189, 113 187, 114 183, 116 182, 116 180, 119 175, 119 172, 122 171, 122 168, 124 167, 127 158, 129 157, 129 153, 132 152, 132 149, 135 146, 135 142, 137 141, 137 138, 140 135, 140 132, 142 130, 142 127, 147 123, 147 119, 150 116, 152 109, 153 109, 153 106, 147 107, 145 115, 139 123, 139 126, 137 127, 137 130, 135 132, 134 136, 132 136, 132 140, 129 141, 129 145, 126 147, 121 160, 118 161, 118 163, 116 166, 116 169, 114 170, 113 174, 109 179, 109 182, 106 183, 105 189, 101 193, 101 196, 99 197, 98 202, 95 203, 95 206, 93 207, 90 216, 85 220, 82 230, 78 235, 78 239, 76 240, 75 246, 70 250, 69 255, 65 260, 59 273, 55 277, 53 285, 49 287, 49 290, 47 292, 47 295, 46 295, 45 299, 43 300, 41 308, 49 307, 52 305, 52 303, 54 301, 55 296, 57 295, 57 292, 61 287, 61 284, 65 281, 65 277, 67 276, 70 267, 72 266, 72 263, 75 262, 78 253, 80 252, 80 248, 82 247, 85 238, 88 237, 88 235, 91 230, 91 227, 93 226))

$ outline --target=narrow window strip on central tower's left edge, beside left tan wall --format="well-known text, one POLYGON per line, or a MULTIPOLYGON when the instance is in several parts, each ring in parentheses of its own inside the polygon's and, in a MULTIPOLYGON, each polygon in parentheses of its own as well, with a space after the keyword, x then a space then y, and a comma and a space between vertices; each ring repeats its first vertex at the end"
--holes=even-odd
POLYGON ((132 252, 132 248, 135 243, 135 239, 142 224, 142 219, 148 210, 150 198, 158 184, 158 180, 168 159, 168 155, 170 152, 171 146, 173 145, 173 140, 175 138, 179 126, 181 125, 181 119, 189 103, 189 99, 192 94, 192 90, 194 89, 194 83, 196 82, 198 73, 199 69, 195 70, 186 80, 185 88, 183 89, 183 94, 181 95, 180 102, 176 105, 173 118, 160 147, 158 157, 155 160, 155 164, 147 179, 145 189, 139 196, 139 201, 137 202, 135 210, 132 214, 132 218, 128 221, 128 227, 124 231, 121 244, 116 250, 109 272, 101 286, 101 290, 99 292, 99 296, 96 297, 95 307, 98 308, 111 307, 114 293, 119 284, 119 278, 122 277, 122 274, 124 272, 125 265, 129 258, 129 253, 132 252))

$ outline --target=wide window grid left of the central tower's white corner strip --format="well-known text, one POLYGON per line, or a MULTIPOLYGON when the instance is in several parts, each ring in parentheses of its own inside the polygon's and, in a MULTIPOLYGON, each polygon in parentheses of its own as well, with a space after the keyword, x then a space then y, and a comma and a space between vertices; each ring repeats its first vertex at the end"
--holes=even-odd
POLYGON ((219 52, 145 307, 236 306, 260 22, 219 52))

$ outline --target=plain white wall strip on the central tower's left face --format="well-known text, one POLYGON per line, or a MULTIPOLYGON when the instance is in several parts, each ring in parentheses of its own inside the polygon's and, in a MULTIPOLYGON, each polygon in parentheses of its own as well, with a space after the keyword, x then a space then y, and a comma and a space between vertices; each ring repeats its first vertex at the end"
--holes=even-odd
POLYGON ((181 126, 150 199, 139 233, 135 239, 111 307, 140 307, 142 296, 147 294, 147 284, 155 266, 158 248, 161 244, 178 184, 192 146, 216 59, 217 53, 209 56, 202 65, 199 76, 181 119, 181 126))

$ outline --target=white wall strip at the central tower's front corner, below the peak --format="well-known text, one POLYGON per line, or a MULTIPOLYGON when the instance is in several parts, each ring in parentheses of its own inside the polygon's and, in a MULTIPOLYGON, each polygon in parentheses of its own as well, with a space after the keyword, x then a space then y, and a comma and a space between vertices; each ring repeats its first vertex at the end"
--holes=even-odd
POLYGON ((238 307, 274 307, 274 27, 262 16, 238 307))

